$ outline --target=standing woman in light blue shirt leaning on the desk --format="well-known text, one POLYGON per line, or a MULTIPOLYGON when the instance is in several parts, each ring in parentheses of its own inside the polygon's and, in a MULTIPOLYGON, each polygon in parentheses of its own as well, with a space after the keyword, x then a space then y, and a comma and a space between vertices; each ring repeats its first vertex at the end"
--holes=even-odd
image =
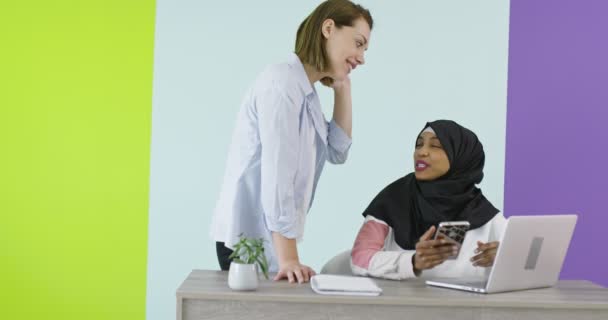
POLYGON ((232 136, 211 236, 222 270, 239 235, 264 238, 274 280, 307 282, 300 262, 306 214, 325 161, 346 161, 351 145, 349 73, 365 62, 373 20, 348 0, 321 3, 300 24, 295 54, 268 66, 246 93, 232 136), (315 83, 334 91, 333 119, 315 83))

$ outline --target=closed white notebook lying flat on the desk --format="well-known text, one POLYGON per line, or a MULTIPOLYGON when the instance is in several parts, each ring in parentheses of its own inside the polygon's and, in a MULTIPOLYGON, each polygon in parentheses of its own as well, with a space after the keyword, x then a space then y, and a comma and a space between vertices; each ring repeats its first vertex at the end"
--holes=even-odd
POLYGON ((310 286, 318 294, 377 296, 382 293, 374 280, 363 277, 317 274, 310 279, 310 286))

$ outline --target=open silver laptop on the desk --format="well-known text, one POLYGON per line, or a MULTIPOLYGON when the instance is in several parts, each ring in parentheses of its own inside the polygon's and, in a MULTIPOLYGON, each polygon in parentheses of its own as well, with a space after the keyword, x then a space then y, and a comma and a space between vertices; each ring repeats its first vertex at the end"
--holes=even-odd
POLYGON ((557 283, 576 219, 576 215, 510 217, 487 279, 444 278, 426 284, 480 293, 551 287, 557 283))

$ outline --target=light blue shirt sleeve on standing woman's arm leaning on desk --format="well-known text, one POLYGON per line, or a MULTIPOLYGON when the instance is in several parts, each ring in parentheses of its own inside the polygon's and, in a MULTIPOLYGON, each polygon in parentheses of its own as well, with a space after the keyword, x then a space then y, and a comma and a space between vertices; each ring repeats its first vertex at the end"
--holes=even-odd
POLYGON ((261 149, 261 201, 270 231, 301 237, 301 215, 295 205, 296 165, 300 152, 301 106, 269 89, 256 99, 261 149))

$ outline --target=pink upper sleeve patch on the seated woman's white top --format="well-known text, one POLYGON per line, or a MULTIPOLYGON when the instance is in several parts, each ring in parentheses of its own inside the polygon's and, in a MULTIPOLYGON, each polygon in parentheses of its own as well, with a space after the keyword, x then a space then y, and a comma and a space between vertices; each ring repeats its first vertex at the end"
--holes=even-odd
POLYGON ((368 269, 369 263, 376 252, 384 247, 388 235, 388 226, 382 222, 368 220, 357 234, 351 252, 352 263, 359 268, 368 269))

